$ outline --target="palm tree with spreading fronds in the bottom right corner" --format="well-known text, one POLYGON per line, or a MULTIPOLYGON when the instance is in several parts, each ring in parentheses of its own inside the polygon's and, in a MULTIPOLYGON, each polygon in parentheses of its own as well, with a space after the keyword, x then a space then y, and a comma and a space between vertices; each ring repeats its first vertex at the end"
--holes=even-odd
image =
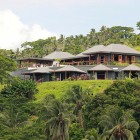
POLYGON ((117 107, 109 108, 99 125, 104 128, 102 138, 106 140, 134 140, 133 133, 139 128, 132 110, 125 112, 117 107))

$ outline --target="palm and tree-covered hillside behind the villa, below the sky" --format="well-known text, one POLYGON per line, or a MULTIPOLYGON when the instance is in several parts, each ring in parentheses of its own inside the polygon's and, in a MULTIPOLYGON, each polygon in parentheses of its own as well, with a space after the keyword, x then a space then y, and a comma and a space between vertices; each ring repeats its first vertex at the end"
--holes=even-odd
MULTIPOLYGON (((136 27, 140 30, 140 22, 136 23, 136 27)), ((57 38, 49 37, 33 42, 23 42, 21 44, 22 51, 18 48, 15 51, 1 50, 1 52, 11 58, 43 57, 55 50, 78 54, 92 46, 109 45, 111 43, 126 44, 140 51, 140 34, 136 33, 132 27, 102 26, 100 31, 91 29, 87 35, 80 34, 67 37, 60 35, 57 38)))

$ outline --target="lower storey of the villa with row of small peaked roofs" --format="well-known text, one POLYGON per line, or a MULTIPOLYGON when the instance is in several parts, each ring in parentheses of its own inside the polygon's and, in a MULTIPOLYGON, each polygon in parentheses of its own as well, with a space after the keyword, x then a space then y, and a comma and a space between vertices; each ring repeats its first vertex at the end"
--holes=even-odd
POLYGON ((137 78, 140 79, 140 67, 134 64, 128 66, 99 65, 63 65, 59 67, 40 67, 36 69, 21 69, 12 75, 23 79, 33 79, 37 82, 63 80, 115 80, 137 78))

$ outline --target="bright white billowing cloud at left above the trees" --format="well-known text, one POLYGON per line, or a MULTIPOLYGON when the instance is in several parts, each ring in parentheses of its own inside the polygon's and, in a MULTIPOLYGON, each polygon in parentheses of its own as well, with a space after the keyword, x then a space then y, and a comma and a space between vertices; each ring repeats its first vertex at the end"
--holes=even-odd
POLYGON ((56 36, 56 34, 43 29, 38 24, 31 27, 24 24, 10 10, 0 11, 0 48, 16 49, 25 41, 45 39, 49 36, 56 36))

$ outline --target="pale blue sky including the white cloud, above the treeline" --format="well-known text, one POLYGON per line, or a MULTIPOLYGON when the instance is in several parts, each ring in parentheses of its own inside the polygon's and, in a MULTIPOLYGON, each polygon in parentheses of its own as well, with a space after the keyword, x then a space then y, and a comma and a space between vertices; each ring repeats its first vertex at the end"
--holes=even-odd
POLYGON ((0 0, 0 49, 140 21, 140 0, 0 0))

